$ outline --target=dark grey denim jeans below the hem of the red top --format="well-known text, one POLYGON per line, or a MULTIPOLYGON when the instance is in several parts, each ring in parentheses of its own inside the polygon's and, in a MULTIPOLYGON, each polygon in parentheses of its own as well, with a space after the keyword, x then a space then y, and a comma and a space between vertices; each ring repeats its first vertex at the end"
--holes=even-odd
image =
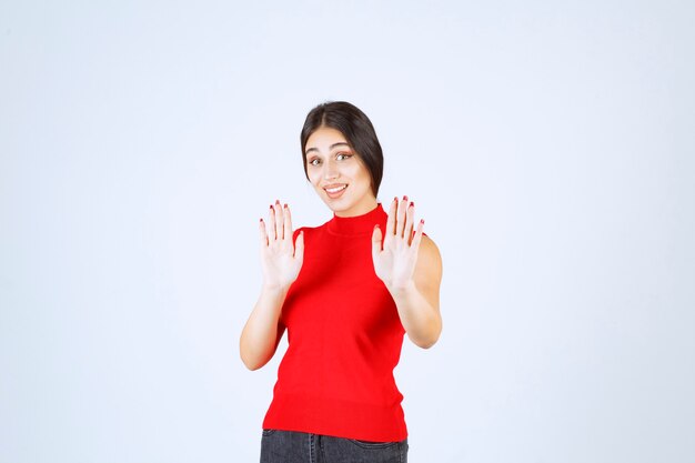
POLYGON ((365 442, 263 430, 261 463, 407 463, 407 439, 401 442, 365 442))

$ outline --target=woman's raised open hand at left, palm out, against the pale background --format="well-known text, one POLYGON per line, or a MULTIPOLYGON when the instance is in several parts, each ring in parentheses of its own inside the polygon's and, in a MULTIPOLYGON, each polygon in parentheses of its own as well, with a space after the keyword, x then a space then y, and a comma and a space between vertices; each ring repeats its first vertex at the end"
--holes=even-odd
POLYGON ((261 219, 261 266, 263 286, 269 290, 288 290, 296 280, 304 259, 304 233, 292 242, 292 215, 288 204, 280 201, 270 207, 268 224, 261 219))

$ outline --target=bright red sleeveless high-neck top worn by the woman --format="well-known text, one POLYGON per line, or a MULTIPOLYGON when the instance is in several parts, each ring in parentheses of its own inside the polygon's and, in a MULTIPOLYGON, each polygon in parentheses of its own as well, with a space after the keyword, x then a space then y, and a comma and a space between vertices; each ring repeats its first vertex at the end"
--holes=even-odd
POLYGON ((405 330, 374 273, 375 224, 385 230, 381 204, 300 229, 304 263, 282 306, 289 346, 264 429, 375 442, 407 436, 393 378, 405 330))

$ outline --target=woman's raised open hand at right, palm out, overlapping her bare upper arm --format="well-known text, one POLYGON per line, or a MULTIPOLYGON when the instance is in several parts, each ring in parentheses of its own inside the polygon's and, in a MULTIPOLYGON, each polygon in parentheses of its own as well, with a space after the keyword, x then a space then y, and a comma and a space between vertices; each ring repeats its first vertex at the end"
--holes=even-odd
POLYGON ((401 290, 413 283, 417 250, 422 240, 424 220, 417 223, 413 234, 415 205, 407 197, 391 202, 382 248, 382 230, 376 225, 372 232, 372 260, 374 271, 390 291, 401 290))

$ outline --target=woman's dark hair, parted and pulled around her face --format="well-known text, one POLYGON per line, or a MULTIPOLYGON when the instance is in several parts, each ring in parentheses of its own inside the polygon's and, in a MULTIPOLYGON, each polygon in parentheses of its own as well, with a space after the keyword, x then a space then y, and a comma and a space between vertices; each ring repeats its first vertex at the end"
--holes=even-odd
POLYGON ((348 144, 352 148, 360 160, 366 167, 372 179, 372 192, 374 197, 379 192, 379 185, 381 184, 381 178, 384 173, 384 155, 381 151, 381 144, 376 138, 376 131, 374 125, 354 104, 346 101, 330 101, 319 104, 316 108, 309 111, 304 127, 302 128, 301 141, 302 141, 302 161, 304 163, 304 174, 309 180, 309 172, 306 171, 306 140, 313 132, 322 127, 330 127, 341 132, 348 144))

